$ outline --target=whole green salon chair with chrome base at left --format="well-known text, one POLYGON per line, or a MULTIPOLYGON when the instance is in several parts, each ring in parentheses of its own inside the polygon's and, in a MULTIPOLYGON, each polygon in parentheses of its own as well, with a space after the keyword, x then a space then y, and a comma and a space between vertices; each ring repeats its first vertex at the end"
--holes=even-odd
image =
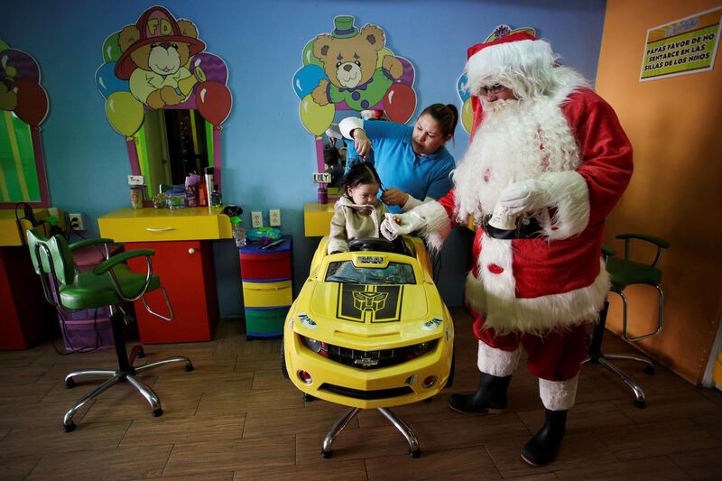
POLYGON ((154 316, 168 321, 173 319, 173 310, 171 302, 168 300, 168 294, 162 288, 158 276, 153 274, 151 256, 155 253, 150 249, 137 249, 109 256, 107 245, 113 243, 112 239, 88 239, 68 245, 63 236, 52 236, 48 239, 34 229, 28 231, 27 238, 35 273, 42 278, 45 299, 55 306, 60 314, 63 310, 87 310, 110 306, 110 322, 116 348, 117 367, 116 369, 80 369, 65 376, 65 387, 68 389, 75 387, 75 379, 79 376, 92 375, 108 377, 108 379, 86 393, 70 407, 63 418, 62 430, 65 432, 75 430, 76 426, 72 421, 73 415, 88 401, 96 398, 116 383, 127 382, 133 385, 151 404, 153 416, 162 415, 163 410, 158 394, 136 375, 171 363, 184 363, 186 371, 192 371, 193 365, 188 357, 177 356, 134 367, 135 358, 144 356, 143 347, 135 346, 128 356, 124 337, 124 328, 128 318, 122 308, 123 302, 141 299, 145 309, 154 316), (72 251, 86 245, 105 245, 106 261, 98 264, 92 271, 79 273, 73 261, 72 251), (147 264, 147 271, 144 274, 132 272, 125 264, 128 259, 143 256, 147 264), (156 289, 162 291, 169 312, 168 317, 153 311, 145 301, 145 294, 156 289))

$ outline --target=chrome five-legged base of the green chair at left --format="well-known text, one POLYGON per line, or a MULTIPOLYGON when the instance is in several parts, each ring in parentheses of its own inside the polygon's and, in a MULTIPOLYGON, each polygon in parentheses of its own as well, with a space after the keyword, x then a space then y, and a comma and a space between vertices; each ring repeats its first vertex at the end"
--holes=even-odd
POLYGON ((79 409, 82 408, 85 404, 87 404, 88 401, 97 398, 97 396, 106 392, 107 389, 117 383, 130 383, 136 390, 138 390, 139 393, 141 393, 141 395, 143 395, 145 400, 149 404, 151 404, 151 414, 153 415, 153 417, 161 416, 163 410, 161 408, 161 401, 160 399, 158 399, 158 394, 153 391, 153 388, 151 386, 143 383, 143 381, 141 381, 135 375, 138 373, 142 373, 143 371, 153 369, 154 367, 160 367, 162 365, 167 365, 171 363, 185 363, 186 371, 190 372, 193 370, 193 364, 190 362, 190 359, 188 357, 176 356, 162 359, 161 361, 156 361, 154 363, 134 367, 133 363, 135 361, 135 358, 143 356, 143 347, 135 346, 133 347, 130 356, 128 356, 127 362, 121 362, 119 368, 116 371, 106 369, 79 369, 78 371, 73 371, 69 373, 69 375, 66 375, 65 387, 67 389, 72 389, 73 387, 75 387, 75 378, 82 375, 109 376, 110 378, 107 379, 106 382, 104 382, 103 384, 97 386, 92 391, 86 393, 78 400, 78 402, 75 402, 72 406, 70 406, 70 409, 65 413, 65 416, 63 416, 62 430, 64 432, 70 432, 72 430, 75 430, 76 425, 73 422, 73 416, 75 415, 75 413, 78 412, 79 409))

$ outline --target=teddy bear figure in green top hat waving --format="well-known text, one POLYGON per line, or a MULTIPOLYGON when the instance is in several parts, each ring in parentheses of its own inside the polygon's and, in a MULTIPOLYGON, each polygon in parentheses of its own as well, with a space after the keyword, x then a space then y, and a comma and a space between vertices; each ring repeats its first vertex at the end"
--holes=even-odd
POLYGON ((346 102, 353 110, 375 106, 394 81, 403 76, 403 63, 385 55, 379 65, 378 53, 384 49, 384 31, 367 24, 360 31, 354 17, 334 18, 334 30, 313 42, 313 55, 320 60, 329 79, 319 80, 311 97, 319 106, 346 102))

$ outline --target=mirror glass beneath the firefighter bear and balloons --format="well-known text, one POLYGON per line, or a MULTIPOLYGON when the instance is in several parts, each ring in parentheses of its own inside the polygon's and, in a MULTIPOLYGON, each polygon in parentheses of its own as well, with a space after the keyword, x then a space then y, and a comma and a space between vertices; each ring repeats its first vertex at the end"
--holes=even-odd
POLYGON ((183 185, 192 172, 215 167, 213 125, 195 109, 145 110, 137 135, 138 162, 148 188, 147 199, 173 185, 183 185))

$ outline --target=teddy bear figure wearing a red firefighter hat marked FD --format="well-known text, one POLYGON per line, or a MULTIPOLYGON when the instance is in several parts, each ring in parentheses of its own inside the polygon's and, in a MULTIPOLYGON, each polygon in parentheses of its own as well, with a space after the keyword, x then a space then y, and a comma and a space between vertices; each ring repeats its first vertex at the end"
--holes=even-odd
POLYGON ((135 98, 151 108, 176 106, 184 102, 203 72, 186 67, 190 58, 206 44, 190 20, 176 20, 162 6, 143 12, 134 25, 120 32, 118 45, 123 52, 116 62, 116 77, 129 79, 135 98))

